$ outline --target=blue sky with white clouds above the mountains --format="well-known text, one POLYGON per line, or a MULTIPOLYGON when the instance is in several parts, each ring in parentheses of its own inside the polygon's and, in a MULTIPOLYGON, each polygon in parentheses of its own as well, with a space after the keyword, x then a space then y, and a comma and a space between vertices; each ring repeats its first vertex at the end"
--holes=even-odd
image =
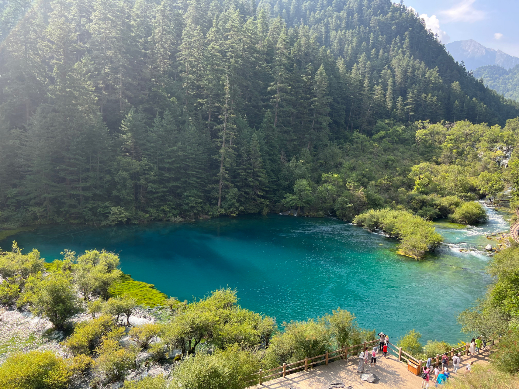
MULTIPOLYGON (((394 0, 393 0, 394 1, 394 0)), ((404 0, 438 33, 444 44, 474 39, 519 57, 517 0, 404 0)))

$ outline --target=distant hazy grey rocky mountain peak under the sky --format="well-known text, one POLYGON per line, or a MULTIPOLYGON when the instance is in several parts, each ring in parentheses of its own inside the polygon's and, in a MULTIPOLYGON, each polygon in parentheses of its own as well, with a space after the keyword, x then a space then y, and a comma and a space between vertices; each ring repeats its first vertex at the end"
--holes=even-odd
POLYGON ((446 44, 445 48, 456 61, 463 61, 469 71, 485 65, 499 65, 510 69, 519 64, 519 58, 485 47, 474 39, 455 40, 446 44))

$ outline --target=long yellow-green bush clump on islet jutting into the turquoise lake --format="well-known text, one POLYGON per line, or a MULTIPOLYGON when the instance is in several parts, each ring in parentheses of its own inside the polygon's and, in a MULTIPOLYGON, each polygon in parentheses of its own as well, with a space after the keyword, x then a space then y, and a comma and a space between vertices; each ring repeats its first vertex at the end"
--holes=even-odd
POLYGON ((435 231, 430 221, 408 211, 371 210, 358 215, 353 222, 370 231, 381 228, 390 237, 401 241, 400 254, 417 259, 443 242, 442 235, 435 231))

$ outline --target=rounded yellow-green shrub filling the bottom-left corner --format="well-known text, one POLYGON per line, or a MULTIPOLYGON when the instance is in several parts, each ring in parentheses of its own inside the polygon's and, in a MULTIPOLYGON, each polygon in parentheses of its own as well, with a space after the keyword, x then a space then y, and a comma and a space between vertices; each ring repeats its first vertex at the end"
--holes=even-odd
POLYGON ((10 356, 0 366, 0 389, 66 389, 73 371, 51 351, 10 356))

